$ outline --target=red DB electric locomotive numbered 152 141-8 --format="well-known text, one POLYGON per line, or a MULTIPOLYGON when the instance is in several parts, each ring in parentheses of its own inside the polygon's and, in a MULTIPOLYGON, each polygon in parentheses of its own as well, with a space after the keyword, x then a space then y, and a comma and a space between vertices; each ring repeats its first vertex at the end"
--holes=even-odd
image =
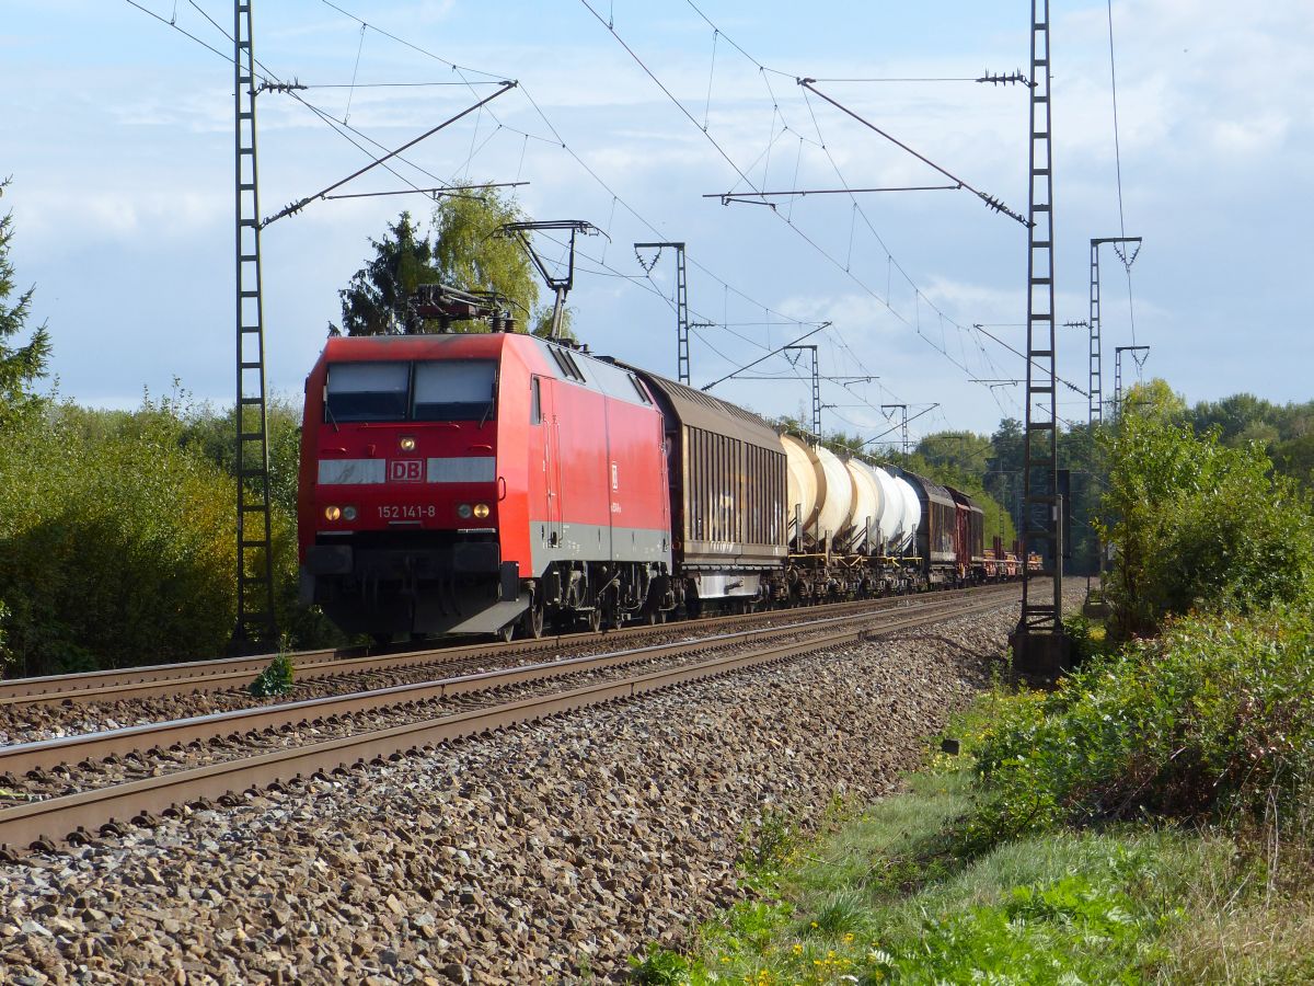
POLYGON ((306 379, 302 598, 380 640, 656 615, 662 429, 633 372, 531 335, 330 339, 306 379))

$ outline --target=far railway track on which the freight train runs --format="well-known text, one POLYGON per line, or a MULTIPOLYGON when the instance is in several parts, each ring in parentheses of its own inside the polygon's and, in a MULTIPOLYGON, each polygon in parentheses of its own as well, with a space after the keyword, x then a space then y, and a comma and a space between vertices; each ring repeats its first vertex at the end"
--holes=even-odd
MULTIPOLYGON (((950 593, 937 593, 933 598, 967 597, 974 593, 1000 590, 1000 586, 978 586, 958 589, 950 593)), ((825 607, 825 611, 836 614, 865 610, 880 611, 915 605, 918 598, 922 597, 895 596, 882 599, 834 603, 825 607)), ((679 632, 686 628, 690 634, 717 634, 735 626, 759 626, 782 619, 794 619, 799 613, 808 610, 762 610, 756 614, 711 617, 656 627, 629 626, 602 634, 568 634, 544 636, 537 640, 516 640, 512 643, 481 642, 401 653, 361 653, 360 648, 348 648, 346 651, 301 651, 290 655, 290 657, 297 681, 318 681, 331 677, 388 674, 411 668, 470 667, 491 659, 501 660, 511 655, 532 659, 536 655, 560 651, 562 647, 573 648, 603 639, 628 640, 631 638, 652 638, 654 634, 669 635, 670 632, 679 632)), ((260 655, 181 664, 154 664, 81 674, 11 678, 0 681, 0 715, 5 710, 22 710, 43 705, 88 705, 244 689, 269 664, 272 657, 273 655, 260 655)))

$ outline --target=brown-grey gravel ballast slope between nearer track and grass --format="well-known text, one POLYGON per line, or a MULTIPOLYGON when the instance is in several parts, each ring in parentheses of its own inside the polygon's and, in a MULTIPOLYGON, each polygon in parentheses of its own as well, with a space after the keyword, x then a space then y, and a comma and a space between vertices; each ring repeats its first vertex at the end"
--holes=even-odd
POLYGON ((763 810, 896 790, 1016 606, 0 866, 0 981, 623 981, 763 810))

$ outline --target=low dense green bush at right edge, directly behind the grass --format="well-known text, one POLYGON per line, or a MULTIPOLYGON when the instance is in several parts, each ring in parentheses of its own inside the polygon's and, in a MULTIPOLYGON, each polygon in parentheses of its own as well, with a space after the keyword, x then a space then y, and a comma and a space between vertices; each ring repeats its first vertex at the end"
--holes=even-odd
POLYGON ((1192 617, 1001 706, 978 748, 986 843, 1144 815, 1303 816, 1314 780, 1314 615, 1192 617))

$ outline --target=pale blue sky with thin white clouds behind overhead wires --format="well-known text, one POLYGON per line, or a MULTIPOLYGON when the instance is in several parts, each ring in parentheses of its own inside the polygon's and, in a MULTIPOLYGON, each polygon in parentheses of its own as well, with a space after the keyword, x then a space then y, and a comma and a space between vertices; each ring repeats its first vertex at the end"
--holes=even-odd
MULTIPOLYGON (((133 408, 234 393, 233 5, 4 0, 0 209, 58 393, 133 408), (217 24, 210 22, 208 17, 217 24), (217 25, 222 25, 222 29, 217 25), (192 37, 188 37, 192 35, 192 37), (208 50, 209 45, 217 51, 208 50), (176 383, 175 383, 176 381, 176 383)), ((256 0, 260 212, 273 216, 494 93, 339 193, 524 183, 536 220, 586 220, 569 304, 594 352, 674 376, 675 258, 689 262, 695 387, 808 333, 823 427, 871 439, 1021 418, 1029 5, 761 0, 256 0), (865 128, 851 109, 943 168, 865 128), (712 197, 708 197, 712 196, 712 197), (641 263, 643 260, 643 263, 641 263), (650 270, 649 270, 650 268, 650 270), (823 322, 830 325, 816 330, 823 322), (974 326, 983 326, 976 329, 974 326), (816 330, 816 331, 813 331, 816 330), (993 337, 993 338, 992 338, 993 337)), ((1101 248, 1104 392, 1116 346, 1194 402, 1314 397, 1314 17, 1309 0, 1072 0, 1051 11, 1058 321, 1087 319, 1101 248), (1114 87, 1117 128, 1114 126, 1114 87), (1121 172, 1121 195, 1120 195, 1121 172)), ((300 401, 338 291, 418 193, 314 200, 263 233, 271 389, 300 401)), ((560 245, 540 241, 553 263, 560 245)), ((547 293, 544 292, 544 300, 547 293)), ((1088 337, 1060 327, 1058 413, 1088 414, 1088 337)), ((807 415, 809 356, 711 393, 807 415)))

